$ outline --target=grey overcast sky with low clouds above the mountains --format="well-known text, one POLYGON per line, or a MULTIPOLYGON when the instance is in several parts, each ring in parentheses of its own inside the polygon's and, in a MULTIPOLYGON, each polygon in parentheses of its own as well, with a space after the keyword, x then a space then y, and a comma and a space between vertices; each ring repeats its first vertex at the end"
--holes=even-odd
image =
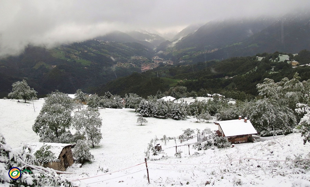
POLYGON ((234 17, 280 16, 309 9, 309 0, 0 1, 0 56, 24 47, 52 47, 113 30, 177 33, 193 23, 234 17))

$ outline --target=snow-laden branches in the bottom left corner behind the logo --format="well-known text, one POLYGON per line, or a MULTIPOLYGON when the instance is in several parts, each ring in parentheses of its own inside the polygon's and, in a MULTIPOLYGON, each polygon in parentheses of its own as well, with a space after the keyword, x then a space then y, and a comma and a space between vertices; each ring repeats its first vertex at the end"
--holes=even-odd
POLYGON ((67 178, 57 175, 56 171, 51 168, 42 168, 41 166, 34 165, 33 162, 25 162, 26 159, 35 159, 32 154, 32 149, 26 143, 17 148, 11 148, 5 141, 5 138, 0 133, 0 184, 5 187, 13 186, 55 186, 55 187, 86 187, 85 183, 75 185, 67 178), (20 171, 26 174, 34 174, 32 176, 22 176, 17 180, 12 180, 8 172, 11 168, 17 167, 20 171), (30 172, 29 172, 30 171, 30 172), (44 175, 52 174, 55 177, 46 177, 44 175))

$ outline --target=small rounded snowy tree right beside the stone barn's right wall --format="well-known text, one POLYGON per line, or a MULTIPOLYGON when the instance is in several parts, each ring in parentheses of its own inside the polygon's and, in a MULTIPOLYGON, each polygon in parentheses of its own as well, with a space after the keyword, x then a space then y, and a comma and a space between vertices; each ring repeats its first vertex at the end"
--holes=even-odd
POLYGON ((89 150, 90 148, 84 140, 78 140, 72 151, 72 155, 73 157, 80 158, 81 163, 85 163, 94 159, 94 155, 92 155, 89 150))

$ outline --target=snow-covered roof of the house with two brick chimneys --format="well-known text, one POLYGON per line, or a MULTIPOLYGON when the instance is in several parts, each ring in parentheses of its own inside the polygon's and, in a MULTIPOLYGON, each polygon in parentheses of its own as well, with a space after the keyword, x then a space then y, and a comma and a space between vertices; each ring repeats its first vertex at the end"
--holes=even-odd
POLYGON ((215 121, 216 125, 219 124, 223 133, 226 137, 229 136, 238 136, 246 134, 257 134, 257 131, 253 127, 250 120, 237 119, 237 120, 226 120, 226 121, 215 121))

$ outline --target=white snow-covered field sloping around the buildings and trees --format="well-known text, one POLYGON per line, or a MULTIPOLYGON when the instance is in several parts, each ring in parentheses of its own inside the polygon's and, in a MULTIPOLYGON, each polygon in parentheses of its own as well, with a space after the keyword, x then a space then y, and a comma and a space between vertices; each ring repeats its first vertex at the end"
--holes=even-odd
MULTIPOLYGON (((33 132, 32 125, 43 102, 43 100, 34 101, 36 109, 36 112, 34 112, 32 102, 25 104, 17 103, 15 100, 0 100, 0 132, 6 138, 8 144, 12 147, 17 147, 20 142, 38 142, 39 137, 33 132)), ((137 125, 137 115, 134 109, 106 108, 100 109, 99 112, 100 117, 103 119, 101 129, 103 139, 98 146, 91 149, 95 160, 91 164, 83 165, 82 168, 79 168, 78 164, 73 164, 69 167, 67 171, 74 172, 74 174, 68 176, 72 180, 104 174, 103 171, 99 171, 99 167, 108 168, 109 171, 117 171, 143 163, 143 152, 148 142, 155 138, 155 136, 161 138, 166 134, 167 136, 174 137, 180 135, 182 130, 187 128, 203 130, 209 127, 211 130, 217 129, 217 126, 213 123, 196 123, 195 118, 179 121, 146 118, 148 120, 147 125, 137 125)), ((183 144, 190 142, 193 142, 193 140, 183 144)), ((181 159, 175 158, 175 148, 167 148, 175 146, 174 140, 167 142, 166 146, 161 141, 159 143, 162 144, 164 151, 161 155, 153 156, 152 158, 160 159, 148 161, 150 185, 147 182, 146 170, 138 172, 145 169, 145 164, 82 181, 92 183, 122 176, 108 181, 93 183, 90 186, 180 186, 186 185, 186 183, 188 183, 188 186, 204 186, 206 181, 209 181, 210 185, 214 184, 214 186, 234 186, 240 184, 241 186, 255 185, 264 187, 310 187, 310 172, 291 167, 289 164, 292 164, 292 162, 269 162, 251 159, 248 162, 245 159, 232 163, 229 162, 229 160, 245 157, 266 160, 296 159, 296 156, 299 155, 301 155, 301 158, 309 157, 307 155, 310 152, 310 144, 303 145, 299 134, 228 149, 215 148, 214 150, 197 151, 190 146, 191 156, 183 153, 183 158, 181 159), (200 154, 193 155, 194 152, 199 152, 200 154), (162 156, 164 157, 161 158, 162 156), (191 165, 221 161, 224 161, 224 163, 191 165), (151 162, 189 165, 162 165, 152 164, 151 162), (123 176, 132 172, 136 173, 123 176)), ((184 149, 183 152, 185 151, 188 150, 184 149)))

